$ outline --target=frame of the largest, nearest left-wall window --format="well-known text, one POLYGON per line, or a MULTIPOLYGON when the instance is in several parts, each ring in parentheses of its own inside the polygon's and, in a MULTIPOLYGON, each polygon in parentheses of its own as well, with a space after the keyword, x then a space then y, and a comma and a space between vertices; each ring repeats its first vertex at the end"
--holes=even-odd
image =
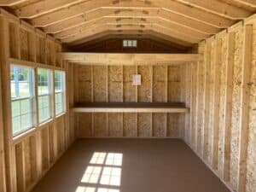
MULTIPOLYGON (((31 131, 37 125, 37 121, 35 120, 35 113, 37 112, 36 105, 35 105, 35 101, 36 101, 36 97, 37 97, 36 96, 36 90, 35 90, 35 67, 26 66, 26 65, 20 65, 20 64, 15 64, 15 63, 10 63, 10 65, 9 65, 9 75, 11 73, 11 68, 12 67, 30 69, 30 73, 29 73, 29 80, 30 81, 28 82, 30 84, 29 85, 30 96, 23 96, 23 97, 13 98, 12 94, 11 94, 12 93, 12 80, 11 80, 11 76, 9 76, 11 132, 12 132, 12 137, 17 137, 17 136, 23 134, 26 131, 31 131), (15 132, 14 131, 14 124, 13 124, 13 113, 12 113, 13 102, 24 101, 24 100, 28 100, 31 103, 31 120, 32 120, 32 125, 30 127, 23 128, 23 129, 20 127, 20 131, 15 132)), ((16 92, 16 90, 15 90, 15 92, 16 92)), ((21 113, 20 113, 20 116, 22 116, 21 113)))

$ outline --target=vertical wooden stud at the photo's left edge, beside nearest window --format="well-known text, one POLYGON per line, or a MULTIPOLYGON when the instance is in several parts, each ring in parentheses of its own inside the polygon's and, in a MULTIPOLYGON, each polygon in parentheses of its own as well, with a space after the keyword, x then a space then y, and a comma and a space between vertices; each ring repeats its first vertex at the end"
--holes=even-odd
POLYGON ((7 191, 16 192, 16 175, 15 175, 15 150, 12 147, 13 133, 11 126, 11 101, 9 88, 9 22, 6 18, 0 16, 0 62, 1 73, 3 78, 3 127, 4 127, 4 146, 5 146, 5 163, 6 163, 6 181, 7 191))

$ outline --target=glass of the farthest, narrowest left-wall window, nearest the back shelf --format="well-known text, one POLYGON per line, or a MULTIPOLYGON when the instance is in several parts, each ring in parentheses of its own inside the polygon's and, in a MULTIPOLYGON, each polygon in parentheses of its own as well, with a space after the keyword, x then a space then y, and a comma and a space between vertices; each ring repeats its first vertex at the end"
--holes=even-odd
POLYGON ((63 113, 64 108, 65 73, 55 71, 55 115, 63 113))

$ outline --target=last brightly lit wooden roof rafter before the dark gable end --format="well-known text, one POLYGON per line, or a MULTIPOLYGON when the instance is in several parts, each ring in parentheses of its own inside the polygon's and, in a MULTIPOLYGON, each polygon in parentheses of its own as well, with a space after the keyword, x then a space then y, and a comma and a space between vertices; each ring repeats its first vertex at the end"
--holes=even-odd
POLYGON ((125 31, 125 30, 137 30, 137 31, 145 31, 145 30, 151 30, 154 32, 159 32, 162 34, 165 34, 167 36, 170 36, 172 38, 177 38, 180 40, 183 40, 185 42, 188 42, 190 44, 195 44, 198 43, 199 41, 201 41, 201 39, 198 38, 192 38, 189 37, 186 34, 182 34, 180 32, 176 32, 170 29, 166 29, 162 26, 158 26, 158 25, 148 25, 148 26, 112 26, 112 25, 99 25, 99 26, 94 26, 94 27, 90 27, 85 29, 84 31, 72 34, 66 38, 61 38, 62 42, 73 42, 75 40, 78 40, 79 38, 85 38, 85 37, 90 37, 92 35, 94 35, 95 33, 98 32, 104 32, 104 31, 108 31, 108 30, 116 30, 116 31, 125 31))

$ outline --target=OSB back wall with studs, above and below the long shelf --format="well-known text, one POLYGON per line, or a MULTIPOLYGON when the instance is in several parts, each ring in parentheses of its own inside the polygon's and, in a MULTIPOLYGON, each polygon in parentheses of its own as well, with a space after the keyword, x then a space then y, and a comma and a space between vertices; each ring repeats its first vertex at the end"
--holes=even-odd
MULTIPOLYGON (((81 102, 184 102, 185 67, 86 66, 73 64, 74 104, 81 102), (142 85, 132 85, 133 74, 142 75, 142 85), (170 90, 170 91, 168 91, 170 90), (173 96, 172 96, 173 95, 173 96)), ((190 84, 189 84, 190 86, 190 84)), ((78 137, 182 137, 184 115, 172 113, 106 113, 98 126, 98 114, 76 113, 78 137), (95 117, 96 115, 96 117, 95 117), (94 119, 91 121, 90 119, 94 119), (144 122, 147 121, 148 122, 144 122), (174 125, 174 124, 178 125, 174 125), (91 126, 91 127, 90 127, 91 126), (169 127, 170 126, 170 127, 169 127), (177 129, 177 130, 174 130, 177 129), (167 131, 169 130, 169 131, 167 131), (103 131, 101 134, 100 131, 103 131), (168 134, 167 134, 168 133, 168 134)))

